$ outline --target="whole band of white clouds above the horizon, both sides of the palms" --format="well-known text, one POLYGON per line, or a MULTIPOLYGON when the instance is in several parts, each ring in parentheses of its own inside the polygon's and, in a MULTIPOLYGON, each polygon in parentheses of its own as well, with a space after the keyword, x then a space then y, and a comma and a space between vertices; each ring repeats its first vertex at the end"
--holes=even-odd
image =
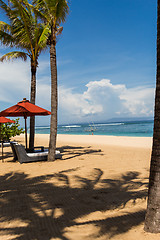
MULTIPOLYGON (((42 65, 48 68, 47 63, 42 65)), ((29 61, 0 63, 0 73, 0 110, 4 109, 3 105, 10 106, 23 97, 29 98, 29 61)), ((102 79, 88 82, 81 93, 60 86, 58 95, 59 123, 153 116, 154 88, 150 87, 127 88, 124 84, 112 84, 110 80, 102 79)), ((45 69, 37 77, 37 104, 50 109, 50 72, 45 69)))

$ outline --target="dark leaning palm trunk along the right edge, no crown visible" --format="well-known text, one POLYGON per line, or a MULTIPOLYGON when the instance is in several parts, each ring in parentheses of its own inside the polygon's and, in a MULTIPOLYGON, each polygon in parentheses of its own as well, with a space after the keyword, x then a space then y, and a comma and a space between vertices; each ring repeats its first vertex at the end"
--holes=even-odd
POLYGON ((160 233, 160 0, 157 20, 157 79, 153 147, 149 177, 148 205, 144 230, 160 233))

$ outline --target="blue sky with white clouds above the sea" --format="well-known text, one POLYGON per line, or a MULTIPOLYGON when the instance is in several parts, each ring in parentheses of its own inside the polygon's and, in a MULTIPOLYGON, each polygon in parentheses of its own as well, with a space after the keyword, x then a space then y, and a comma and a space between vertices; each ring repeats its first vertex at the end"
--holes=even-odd
MULTIPOLYGON (((70 1, 57 43, 59 124, 153 116, 156 14, 156 0, 70 1)), ((29 98, 29 61, 0 63, 0 72, 0 110, 29 98)), ((50 109, 49 50, 39 58, 37 104, 50 109)))

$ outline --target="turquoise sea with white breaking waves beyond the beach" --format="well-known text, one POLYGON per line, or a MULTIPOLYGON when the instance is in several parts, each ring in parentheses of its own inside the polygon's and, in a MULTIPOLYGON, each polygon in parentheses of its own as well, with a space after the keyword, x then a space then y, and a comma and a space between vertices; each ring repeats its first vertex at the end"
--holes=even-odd
MULTIPOLYGON (((39 126, 36 127, 35 132, 39 134, 49 134, 50 127, 39 126)), ((58 134, 152 137, 153 121, 123 121, 59 125, 58 134)))

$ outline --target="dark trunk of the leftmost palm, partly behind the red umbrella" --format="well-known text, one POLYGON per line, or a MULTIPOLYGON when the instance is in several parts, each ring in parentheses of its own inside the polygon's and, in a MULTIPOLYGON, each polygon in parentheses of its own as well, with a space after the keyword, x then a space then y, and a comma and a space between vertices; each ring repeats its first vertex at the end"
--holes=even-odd
MULTIPOLYGON (((36 99, 36 63, 31 62, 31 93, 30 102, 35 104, 36 99)), ((30 137, 29 148, 34 149, 34 135, 35 135, 35 117, 30 117, 30 137)))

